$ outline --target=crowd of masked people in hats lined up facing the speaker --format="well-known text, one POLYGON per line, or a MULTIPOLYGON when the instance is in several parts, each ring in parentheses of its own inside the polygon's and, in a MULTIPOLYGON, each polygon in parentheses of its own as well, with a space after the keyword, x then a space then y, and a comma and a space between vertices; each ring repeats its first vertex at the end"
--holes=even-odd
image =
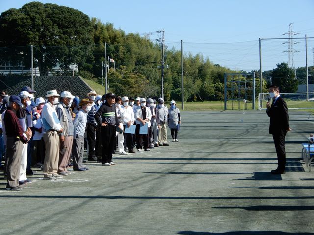
POLYGON ((89 170, 83 160, 86 148, 88 161, 111 166, 116 164, 113 153, 126 155, 169 146, 167 124, 172 141, 179 142, 181 116, 173 100, 168 110, 162 98, 156 105, 153 99, 121 98, 112 93, 100 96, 95 91, 81 100, 69 91, 60 95, 56 90, 47 91, 46 99, 35 99, 35 93, 29 87, 23 87, 18 95, 1 93, 0 157, 5 156, 5 166, 0 167, 7 190, 21 190, 31 183, 27 178, 34 174, 31 168, 42 168, 47 180, 71 174, 71 166, 78 172, 89 170))

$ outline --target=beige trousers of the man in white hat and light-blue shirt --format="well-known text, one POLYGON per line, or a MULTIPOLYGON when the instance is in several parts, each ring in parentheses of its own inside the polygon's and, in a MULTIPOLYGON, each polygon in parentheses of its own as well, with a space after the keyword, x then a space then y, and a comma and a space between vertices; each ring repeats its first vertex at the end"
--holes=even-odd
POLYGON ((59 163, 59 135, 56 131, 44 133, 45 160, 44 176, 54 175, 58 172, 59 163))

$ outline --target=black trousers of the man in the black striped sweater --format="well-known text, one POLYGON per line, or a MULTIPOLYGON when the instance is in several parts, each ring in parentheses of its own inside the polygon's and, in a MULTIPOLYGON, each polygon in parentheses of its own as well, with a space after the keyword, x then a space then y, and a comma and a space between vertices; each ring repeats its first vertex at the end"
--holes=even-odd
POLYGON ((112 153, 116 138, 115 126, 102 126, 102 163, 112 162, 112 153))

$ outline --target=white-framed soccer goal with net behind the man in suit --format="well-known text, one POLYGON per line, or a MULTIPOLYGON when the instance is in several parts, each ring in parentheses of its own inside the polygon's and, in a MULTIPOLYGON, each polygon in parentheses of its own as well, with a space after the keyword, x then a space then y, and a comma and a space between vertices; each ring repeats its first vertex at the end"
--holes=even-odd
MULTIPOLYGON (((314 92, 309 92, 309 99, 306 92, 280 93, 286 101, 288 109, 314 109, 314 92)), ((259 110, 266 109, 269 99, 268 93, 259 93, 259 110)))

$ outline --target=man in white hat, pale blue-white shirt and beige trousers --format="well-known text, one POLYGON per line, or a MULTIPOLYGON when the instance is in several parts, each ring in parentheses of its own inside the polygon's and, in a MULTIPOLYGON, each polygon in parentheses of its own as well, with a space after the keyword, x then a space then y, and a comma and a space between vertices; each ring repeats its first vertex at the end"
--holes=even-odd
POLYGON ((56 90, 46 92, 48 99, 41 112, 41 120, 44 127, 44 142, 45 142, 45 160, 44 160, 44 179, 55 180, 63 178, 59 175, 59 152, 60 140, 59 133, 63 132, 62 126, 58 119, 55 105, 59 103, 60 95, 56 90))

